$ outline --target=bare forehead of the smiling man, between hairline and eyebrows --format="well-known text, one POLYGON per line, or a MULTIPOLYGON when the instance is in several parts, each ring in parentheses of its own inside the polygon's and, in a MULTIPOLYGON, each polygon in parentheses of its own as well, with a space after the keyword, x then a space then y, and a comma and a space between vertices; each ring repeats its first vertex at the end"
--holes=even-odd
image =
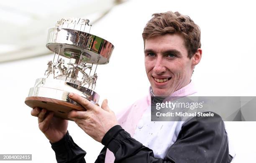
POLYGON ((184 39, 179 34, 165 34, 148 38, 145 40, 145 50, 154 50, 157 53, 166 50, 178 50, 187 54, 184 39))

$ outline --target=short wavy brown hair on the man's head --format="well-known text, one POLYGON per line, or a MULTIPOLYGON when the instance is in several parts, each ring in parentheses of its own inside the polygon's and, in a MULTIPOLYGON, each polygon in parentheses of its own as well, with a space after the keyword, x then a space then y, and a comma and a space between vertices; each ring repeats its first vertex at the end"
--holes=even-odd
POLYGON ((189 16, 182 15, 179 12, 173 13, 172 11, 154 13, 152 16, 153 18, 148 21, 142 33, 144 45, 148 38, 167 33, 178 33, 184 38, 188 58, 192 58, 197 49, 201 48, 200 28, 189 16))

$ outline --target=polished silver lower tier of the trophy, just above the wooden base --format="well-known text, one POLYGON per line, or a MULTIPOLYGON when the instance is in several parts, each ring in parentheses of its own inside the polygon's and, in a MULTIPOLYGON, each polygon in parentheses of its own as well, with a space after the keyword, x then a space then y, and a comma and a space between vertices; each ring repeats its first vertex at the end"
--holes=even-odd
POLYGON ((45 97, 69 102, 67 98, 69 93, 77 93, 93 103, 97 103, 100 98, 95 91, 81 85, 50 78, 36 79, 34 87, 29 90, 28 97, 45 97))

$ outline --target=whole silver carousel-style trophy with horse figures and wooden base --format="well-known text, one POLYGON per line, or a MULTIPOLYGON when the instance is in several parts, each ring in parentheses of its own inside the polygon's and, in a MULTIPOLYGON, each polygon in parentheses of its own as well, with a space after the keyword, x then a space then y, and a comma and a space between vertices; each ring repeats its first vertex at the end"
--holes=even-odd
POLYGON ((69 93, 98 103, 99 95, 94 91, 97 65, 109 63, 114 46, 90 34, 89 22, 83 18, 62 18, 49 29, 46 47, 54 52, 54 58, 47 63, 45 78, 38 78, 30 88, 26 105, 46 108, 54 111, 54 116, 68 119, 70 110, 85 110, 69 98, 69 93), (65 63, 61 57, 69 61, 65 63))

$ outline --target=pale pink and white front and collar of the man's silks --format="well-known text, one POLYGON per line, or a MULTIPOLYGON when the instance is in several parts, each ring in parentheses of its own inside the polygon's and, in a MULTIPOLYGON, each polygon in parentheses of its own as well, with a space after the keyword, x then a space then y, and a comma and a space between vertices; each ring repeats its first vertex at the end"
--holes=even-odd
MULTIPOLYGON (((188 96, 197 91, 192 82, 175 91, 171 96, 188 96)), ((154 156, 164 158, 168 148, 172 145, 181 129, 181 122, 151 122, 151 94, 126 108, 118 116, 122 128, 130 133, 131 137, 154 151, 154 156), (149 134, 150 136, 146 135, 149 134), (165 138, 161 139, 161 135, 165 138), (167 140, 167 143, 166 143, 167 140), (169 140, 169 141, 168 141, 169 140), (160 148, 161 147, 161 148, 160 148)), ((114 163, 114 154, 107 149, 105 163, 114 163)))

